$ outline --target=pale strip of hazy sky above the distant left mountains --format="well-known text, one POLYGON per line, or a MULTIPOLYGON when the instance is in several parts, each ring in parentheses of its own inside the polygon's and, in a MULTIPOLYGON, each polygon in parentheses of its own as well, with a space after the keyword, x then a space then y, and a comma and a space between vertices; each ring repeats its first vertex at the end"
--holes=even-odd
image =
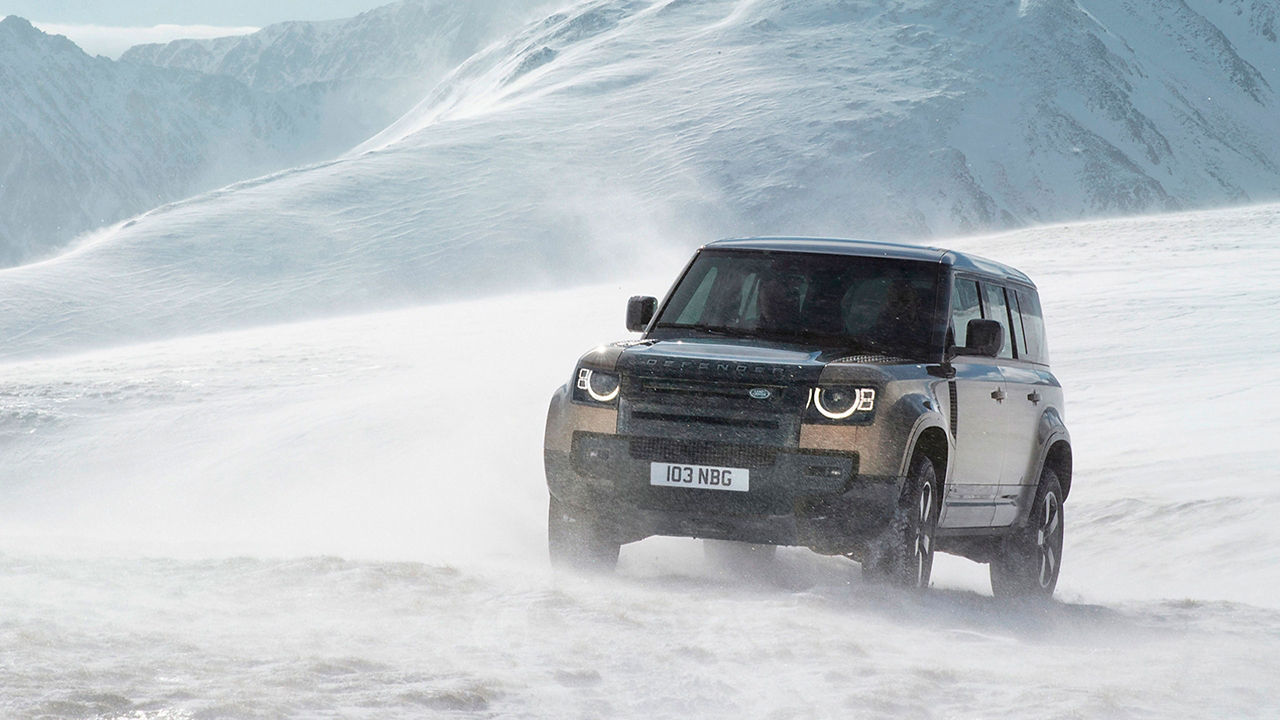
POLYGON ((392 0, 0 0, 0 18, 20 15, 65 35, 91 55, 119 58, 143 42, 244 35, 284 20, 349 18, 392 0))

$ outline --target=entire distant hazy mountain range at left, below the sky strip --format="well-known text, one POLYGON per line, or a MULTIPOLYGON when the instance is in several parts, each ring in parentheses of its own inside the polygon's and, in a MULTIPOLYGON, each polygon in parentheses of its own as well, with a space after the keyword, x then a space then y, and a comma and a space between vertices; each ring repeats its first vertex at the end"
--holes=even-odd
POLYGON ((531 3, 407 0, 351 20, 140 46, 119 63, 0 28, 0 266, 387 127, 531 3), (509 8, 507 8, 509 5, 509 8))

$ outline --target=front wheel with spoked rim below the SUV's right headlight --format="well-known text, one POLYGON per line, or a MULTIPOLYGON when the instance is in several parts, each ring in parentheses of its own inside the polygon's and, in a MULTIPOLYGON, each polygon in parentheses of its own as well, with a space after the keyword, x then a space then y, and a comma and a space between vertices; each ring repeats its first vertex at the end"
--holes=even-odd
POLYGON ((883 542, 863 562, 874 580, 923 591, 933 573, 933 539, 938 529, 938 477, 933 461, 920 455, 911 462, 906 491, 890 521, 883 542))

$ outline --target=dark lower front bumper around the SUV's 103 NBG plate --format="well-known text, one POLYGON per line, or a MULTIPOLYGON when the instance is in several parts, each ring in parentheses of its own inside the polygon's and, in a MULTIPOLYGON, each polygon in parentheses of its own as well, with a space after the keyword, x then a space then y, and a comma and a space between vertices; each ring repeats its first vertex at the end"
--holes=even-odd
POLYGON ((858 552, 887 527, 902 478, 859 474, 856 452, 573 432, 548 448, 548 489, 589 509, 620 542, 649 536, 858 552), (748 468, 749 492, 655 487, 650 462, 748 468))

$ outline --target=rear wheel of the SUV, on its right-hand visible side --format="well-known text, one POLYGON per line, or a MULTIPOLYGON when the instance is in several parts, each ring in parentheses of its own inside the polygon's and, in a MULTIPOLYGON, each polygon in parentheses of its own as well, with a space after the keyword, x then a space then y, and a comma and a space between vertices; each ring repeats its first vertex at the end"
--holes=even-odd
POLYGON ((1062 569, 1062 486, 1051 468, 1041 471, 1036 503, 1027 527, 1005 538, 991 561, 991 592, 996 597, 1048 600, 1062 569))

